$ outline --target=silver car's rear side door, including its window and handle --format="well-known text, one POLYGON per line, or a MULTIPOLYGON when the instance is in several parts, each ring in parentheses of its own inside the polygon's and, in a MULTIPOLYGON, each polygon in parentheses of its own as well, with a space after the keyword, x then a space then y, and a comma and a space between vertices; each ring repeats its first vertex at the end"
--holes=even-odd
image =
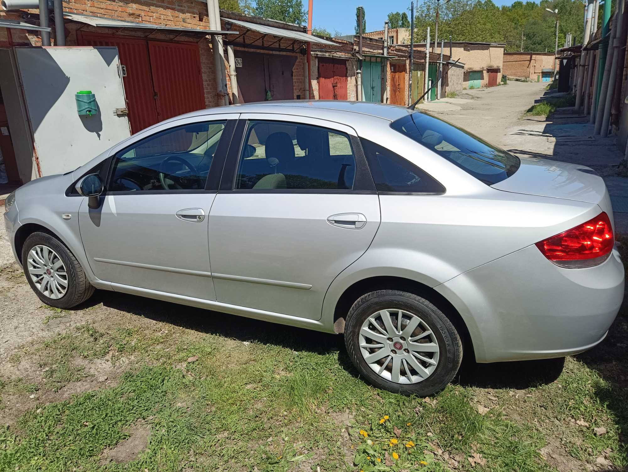
POLYGON ((209 215, 219 302, 318 320, 369 247, 379 200, 354 129, 242 114, 209 215), (236 145, 237 141, 237 145, 236 145))

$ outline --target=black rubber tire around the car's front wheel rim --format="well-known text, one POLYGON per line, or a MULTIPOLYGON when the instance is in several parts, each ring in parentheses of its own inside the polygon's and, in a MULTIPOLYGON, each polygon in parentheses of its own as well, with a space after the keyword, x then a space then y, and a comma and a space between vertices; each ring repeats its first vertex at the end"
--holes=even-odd
POLYGON ((50 233, 37 232, 26 238, 22 248, 22 265, 24 267, 24 274, 26 275, 28 285, 31 286, 33 292, 35 292, 39 299, 46 305, 68 309, 75 307, 78 304, 82 304, 94 294, 95 288, 88 282, 87 277, 85 276, 85 271, 80 263, 78 263, 77 258, 74 257, 65 244, 50 233), (48 248, 55 251, 55 253, 57 253, 59 258, 63 261, 63 265, 65 265, 68 278, 68 288, 65 294, 58 299, 52 299, 41 293, 28 273, 28 253, 33 247, 40 244, 48 246, 48 248))

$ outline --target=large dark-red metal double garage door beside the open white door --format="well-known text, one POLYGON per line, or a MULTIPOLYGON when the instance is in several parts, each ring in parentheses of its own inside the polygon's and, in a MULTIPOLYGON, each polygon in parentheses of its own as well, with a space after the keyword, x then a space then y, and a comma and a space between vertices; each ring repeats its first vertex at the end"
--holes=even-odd
POLYGON ((78 31, 81 46, 116 46, 131 131, 205 108, 198 45, 78 31))

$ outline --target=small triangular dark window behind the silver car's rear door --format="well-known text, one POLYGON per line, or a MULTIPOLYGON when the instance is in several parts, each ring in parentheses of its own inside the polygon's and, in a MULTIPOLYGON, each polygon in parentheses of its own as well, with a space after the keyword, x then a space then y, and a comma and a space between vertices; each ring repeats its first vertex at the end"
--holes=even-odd
POLYGON ((360 141, 378 192, 445 193, 443 185, 413 163, 372 141, 360 141))

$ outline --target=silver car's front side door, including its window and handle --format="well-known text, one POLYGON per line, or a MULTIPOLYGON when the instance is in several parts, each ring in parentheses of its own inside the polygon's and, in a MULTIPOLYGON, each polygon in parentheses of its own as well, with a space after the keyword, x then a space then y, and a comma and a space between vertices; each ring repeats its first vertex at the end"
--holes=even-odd
POLYGON ((181 119, 114 153, 99 208, 85 199, 78 216, 96 277, 215 300, 207 222, 237 116, 181 119))

